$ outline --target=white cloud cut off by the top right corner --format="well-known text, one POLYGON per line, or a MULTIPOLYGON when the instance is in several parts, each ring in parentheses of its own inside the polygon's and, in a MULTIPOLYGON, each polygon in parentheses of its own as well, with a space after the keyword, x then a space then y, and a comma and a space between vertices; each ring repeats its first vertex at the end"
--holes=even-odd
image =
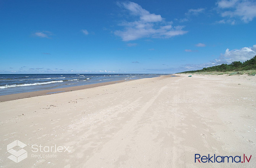
POLYGON ((222 17, 238 17, 245 23, 252 21, 256 17, 255 0, 219 0, 217 8, 222 17))

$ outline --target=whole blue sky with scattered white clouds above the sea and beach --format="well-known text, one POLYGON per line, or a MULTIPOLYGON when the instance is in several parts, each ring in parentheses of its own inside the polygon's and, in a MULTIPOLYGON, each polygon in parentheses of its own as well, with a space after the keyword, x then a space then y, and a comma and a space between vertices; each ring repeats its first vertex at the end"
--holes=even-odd
POLYGON ((1 0, 0 73, 176 73, 256 55, 255 0, 1 0))

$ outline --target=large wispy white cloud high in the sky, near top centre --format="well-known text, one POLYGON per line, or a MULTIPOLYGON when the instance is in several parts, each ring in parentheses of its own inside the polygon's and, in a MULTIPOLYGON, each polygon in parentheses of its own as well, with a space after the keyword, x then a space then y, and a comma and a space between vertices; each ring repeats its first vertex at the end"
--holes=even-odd
POLYGON ((123 41, 137 40, 139 38, 170 38, 172 36, 183 35, 187 31, 182 30, 182 26, 172 26, 172 22, 165 22, 164 18, 157 14, 151 14, 134 2, 118 3, 125 8, 131 16, 136 17, 136 21, 123 21, 119 26, 123 30, 115 31, 115 35, 120 36, 123 41))

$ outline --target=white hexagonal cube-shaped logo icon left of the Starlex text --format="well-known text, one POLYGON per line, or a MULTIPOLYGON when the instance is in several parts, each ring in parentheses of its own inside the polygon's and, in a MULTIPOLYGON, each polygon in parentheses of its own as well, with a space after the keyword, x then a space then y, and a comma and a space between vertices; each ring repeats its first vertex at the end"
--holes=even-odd
POLYGON ((8 156, 12 161, 19 163, 21 160, 25 159, 28 157, 28 152, 24 149, 20 149, 18 151, 14 150, 13 147, 25 147, 27 146, 26 144, 22 143, 19 140, 13 141, 12 143, 7 145, 7 152, 9 152, 11 155, 8 156))

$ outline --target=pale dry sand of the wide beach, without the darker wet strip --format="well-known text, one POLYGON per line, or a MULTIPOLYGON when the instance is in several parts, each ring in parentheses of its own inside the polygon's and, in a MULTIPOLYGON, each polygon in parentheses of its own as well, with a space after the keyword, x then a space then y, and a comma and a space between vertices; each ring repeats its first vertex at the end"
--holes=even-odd
POLYGON ((256 164, 255 76, 139 79, 0 102, 0 116, 2 167, 256 164), (19 163, 7 158, 11 154, 6 149, 17 139, 28 151, 28 158, 19 163), (32 152, 31 146, 40 144, 45 151, 32 152), (69 146, 69 152, 47 152, 47 146, 55 144, 69 146), (252 156, 249 163, 194 163, 195 154, 252 156))

